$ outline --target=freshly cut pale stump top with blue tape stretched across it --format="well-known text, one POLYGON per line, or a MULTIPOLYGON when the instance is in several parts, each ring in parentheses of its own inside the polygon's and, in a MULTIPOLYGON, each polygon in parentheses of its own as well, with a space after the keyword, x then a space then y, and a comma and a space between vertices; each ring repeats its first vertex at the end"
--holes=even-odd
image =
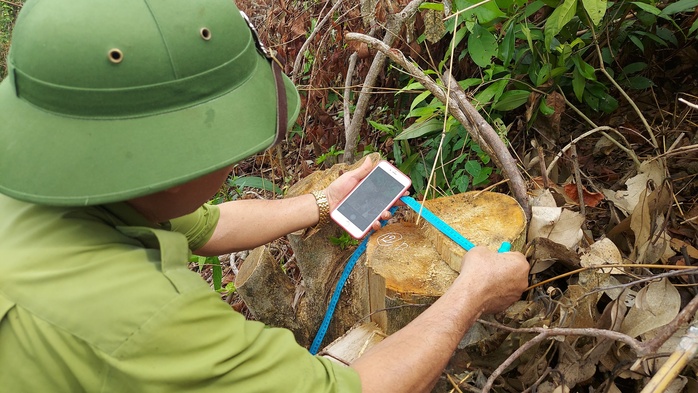
MULTIPOLYGON (((476 245, 521 250, 523 209, 513 198, 467 192, 426 201, 424 206, 476 245)), ((458 276, 465 250, 416 212, 371 236, 366 250, 371 320, 387 334, 402 328, 441 296, 458 276)))

